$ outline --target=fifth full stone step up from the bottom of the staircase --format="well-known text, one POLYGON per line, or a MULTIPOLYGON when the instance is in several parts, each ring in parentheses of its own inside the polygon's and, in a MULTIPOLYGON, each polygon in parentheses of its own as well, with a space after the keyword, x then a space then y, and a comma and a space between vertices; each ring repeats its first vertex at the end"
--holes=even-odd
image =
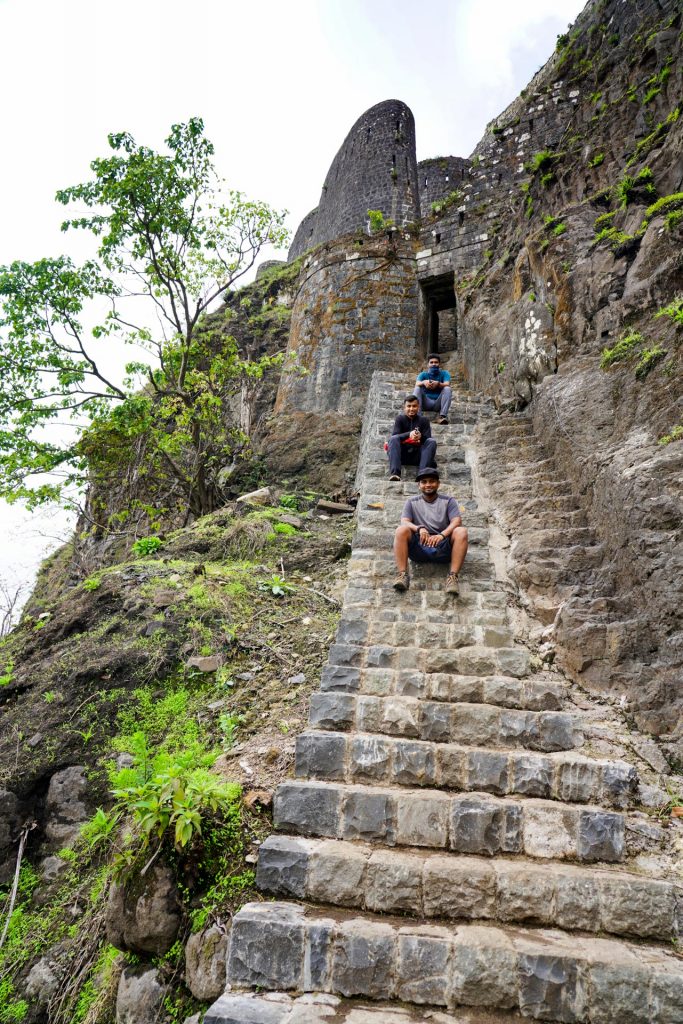
POLYGON ((531 750, 552 754, 577 750, 584 743, 581 714, 520 711, 496 705, 425 700, 403 695, 313 693, 310 723, 315 728, 335 732, 356 730, 497 751, 531 750), (345 699, 339 699, 341 697, 345 699))

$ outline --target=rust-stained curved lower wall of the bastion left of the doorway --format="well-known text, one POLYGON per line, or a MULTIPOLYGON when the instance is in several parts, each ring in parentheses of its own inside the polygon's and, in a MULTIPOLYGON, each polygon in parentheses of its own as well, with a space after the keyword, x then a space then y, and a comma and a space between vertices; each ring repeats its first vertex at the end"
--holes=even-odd
POLYGON ((415 366, 418 286, 399 232, 345 238, 304 263, 275 414, 360 414, 373 372, 415 366))

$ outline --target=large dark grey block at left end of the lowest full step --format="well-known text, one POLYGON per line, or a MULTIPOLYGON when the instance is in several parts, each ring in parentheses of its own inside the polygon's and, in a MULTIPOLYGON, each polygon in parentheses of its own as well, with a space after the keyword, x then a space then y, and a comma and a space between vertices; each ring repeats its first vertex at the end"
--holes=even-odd
POLYGON ((232 984, 300 988, 305 921, 292 903, 247 903, 232 920, 227 977, 232 984))

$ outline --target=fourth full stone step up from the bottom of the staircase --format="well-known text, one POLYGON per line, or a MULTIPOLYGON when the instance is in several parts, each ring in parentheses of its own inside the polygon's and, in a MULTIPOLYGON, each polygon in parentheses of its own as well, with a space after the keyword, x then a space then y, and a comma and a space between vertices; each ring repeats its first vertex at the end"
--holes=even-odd
POLYGON ((541 797, 621 809, 636 802, 638 786, 635 768, 623 761, 368 732, 301 733, 296 739, 295 774, 298 778, 541 797))

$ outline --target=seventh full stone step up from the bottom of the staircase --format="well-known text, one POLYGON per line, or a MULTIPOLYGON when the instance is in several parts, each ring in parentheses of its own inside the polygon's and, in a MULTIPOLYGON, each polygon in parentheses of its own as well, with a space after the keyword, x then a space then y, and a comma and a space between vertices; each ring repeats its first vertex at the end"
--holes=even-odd
MULTIPOLYGON (((445 597, 453 599, 451 594, 445 597)), ((462 676, 503 675, 520 679, 529 673, 529 653, 524 647, 472 645, 445 649, 392 647, 383 644, 356 647, 342 643, 332 644, 330 647, 329 665, 355 669, 411 669, 417 672, 457 673, 462 676)))

